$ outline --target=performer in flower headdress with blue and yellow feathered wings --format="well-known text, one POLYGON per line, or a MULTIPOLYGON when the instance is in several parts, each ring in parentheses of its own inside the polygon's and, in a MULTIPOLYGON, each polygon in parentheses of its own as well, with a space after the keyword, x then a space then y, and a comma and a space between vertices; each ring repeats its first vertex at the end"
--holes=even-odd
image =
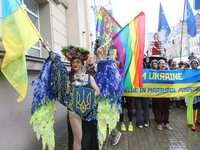
MULTIPOLYGON (((42 42, 42 44, 43 46, 49 47, 46 41, 42 42)), ((119 105, 121 102, 119 98, 122 93, 121 78, 115 75, 115 69, 113 68, 116 67, 113 67, 113 63, 109 61, 102 61, 102 63, 98 64, 98 70, 102 72, 97 71, 94 78, 82 73, 81 68, 83 62, 89 56, 89 52, 84 48, 68 45, 63 47, 61 51, 70 61, 72 71, 68 73, 60 60, 60 56, 52 51, 50 52, 50 56, 45 60, 39 77, 32 82, 32 85, 35 85, 35 89, 30 123, 33 125, 37 138, 39 139, 40 136, 42 137, 43 149, 45 149, 46 145, 48 145, 49 149, 54 149, 53 113, 56 109, 55 101, 58 100, 68 109, 69 122, 74 136, 73 149, 83 149, 81 144, 82 137, 84 137, 81 127, 82 120, 90 122, 92 120, 97 120, 97 118, 97 140, 99 140, 99 149, 101 149, 105 137, 105 135, 103 135, 102 138, 102 133, 105 133, 102 132, 102 129, 106 130, 107 124, 109 124, 110 129, 114 128, 119 118, 121 108, 119 105), (106 85, 103 83, 106 83, 106 85), (102 91, 101 95, 98 96, 96 100, 94 99, 94 103, 87 114, 81 114, 81 112, 77 110, 77 107, 75 107, 74 99, 76 100, 76 98, 74 97, 77 96, 74 94, 80 88, 94 89, 93 97, 97 97, 100 91, 102 91), (96 108, 96 105, 98 105, 98 108, 96 108), (108 112, 109 110, 110 112, 108 112), (110 114, 107 115, 108 113, 110 114)), ((89 147, 89 145, 87 146, 89 147)))

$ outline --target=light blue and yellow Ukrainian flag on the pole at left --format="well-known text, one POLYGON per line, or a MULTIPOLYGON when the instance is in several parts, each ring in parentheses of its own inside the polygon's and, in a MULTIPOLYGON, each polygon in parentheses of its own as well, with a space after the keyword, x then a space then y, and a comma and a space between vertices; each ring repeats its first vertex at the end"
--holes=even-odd
POLYGON ((2 0, 2 42, 6 50, 1 71, 19 92, 18 102, 27 92, 27 70, 24 53, 38 42, 35 29, 18 0, 2 0))

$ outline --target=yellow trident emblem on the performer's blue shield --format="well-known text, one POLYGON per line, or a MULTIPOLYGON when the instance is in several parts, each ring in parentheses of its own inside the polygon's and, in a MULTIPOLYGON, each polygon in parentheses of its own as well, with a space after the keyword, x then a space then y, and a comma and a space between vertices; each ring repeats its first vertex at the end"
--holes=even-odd
POLYGON ((83 100, 81 102, 81 94, 76 91, 76 108, 79 108, 82 113, 85 113, 85 111, 88 109, 91 109, 91 97, 92 93, 90 92, 87 95, 87 99, 85 101, 85 90, 83 90, 83 100))

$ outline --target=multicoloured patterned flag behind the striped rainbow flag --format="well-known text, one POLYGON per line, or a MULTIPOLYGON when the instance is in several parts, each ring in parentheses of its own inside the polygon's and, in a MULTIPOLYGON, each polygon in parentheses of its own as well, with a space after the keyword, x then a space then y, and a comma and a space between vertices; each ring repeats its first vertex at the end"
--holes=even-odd
POLYGON ((104 45, 103 58, 108 54, 109 49, 113 45, 112 37, 121 30, 120 24, 112 17, 112 15, 101 7, 97 18, 96 31, 100 32, 100 45, 104 45))

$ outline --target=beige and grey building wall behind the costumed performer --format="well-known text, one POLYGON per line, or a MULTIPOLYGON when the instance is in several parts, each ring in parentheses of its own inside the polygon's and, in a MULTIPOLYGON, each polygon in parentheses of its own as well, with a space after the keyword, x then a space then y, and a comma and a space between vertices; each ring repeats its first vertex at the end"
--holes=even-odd
MULTIPOLYGON (((89 13, 87 0, 34 0, 39 7, 40 34, 60 54, 61 47, 75 44, 91 49, 89 34, 89 13), (83 32, 85 31, 85 33, 83 32)), ((0 9, 2 0, 0 0, 0 9)), ((2 11, 0 10, 0 37, 2 37, 2 11)), ((5 54, 0 38, 0 67, 5 54)), ((36 79, 48 52, 41 48, 41 58, 26 56, 28 70, 28 91, 24 101, 17 103, 19 94, 0 71, 0 149, 1 150, 37 150, 41 149, 32 126, 31 107, 34 87, 31 82, 36 79)), ((69 63, 65 63, 69 70, 69 63)), ((66 131, 67 111, 56 102, 54 115, 55 137, 59 140, 66 131), (62 128, 61 128, 62 127, 62 128)))

